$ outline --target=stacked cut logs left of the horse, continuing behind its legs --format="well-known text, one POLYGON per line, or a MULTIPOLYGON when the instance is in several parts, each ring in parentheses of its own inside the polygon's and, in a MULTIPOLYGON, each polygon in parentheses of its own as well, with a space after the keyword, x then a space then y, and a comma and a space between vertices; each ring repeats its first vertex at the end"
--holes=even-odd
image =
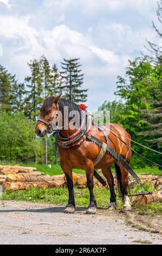
MULTIPOLYGON (((86 175, 73 173, 74 185, 86 187, 86 175)), ((102 187, 94 179, 95 185, 102 187)), ((0 166, 0 185, 3 190, 28 190, 30 187, 54 188, 66 185, 65 175, 44 175, 33 167, 0 166)))

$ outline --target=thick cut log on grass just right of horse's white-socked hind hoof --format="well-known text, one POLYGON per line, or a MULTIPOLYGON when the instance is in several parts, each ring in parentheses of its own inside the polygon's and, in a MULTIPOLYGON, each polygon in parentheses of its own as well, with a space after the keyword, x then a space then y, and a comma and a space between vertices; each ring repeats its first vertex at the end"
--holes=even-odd
POLYGON ((159 201, 162 202, 162 190, 155 190, 152 194, 144 194, 142 196, 137 196, 133 199, 133 204, 144 205, 151 204, 152 202, 159 201))

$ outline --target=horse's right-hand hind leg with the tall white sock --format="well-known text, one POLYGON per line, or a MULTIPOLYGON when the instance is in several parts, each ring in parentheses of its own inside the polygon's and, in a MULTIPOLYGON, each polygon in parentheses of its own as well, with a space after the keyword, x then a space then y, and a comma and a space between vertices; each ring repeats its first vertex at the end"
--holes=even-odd
POLYGON ((131 211, 131 201, 128 197, 128 171, 121 163, 115 163, 115 169, 119 184, 119 191, 124 201, 124 210, 131 211))

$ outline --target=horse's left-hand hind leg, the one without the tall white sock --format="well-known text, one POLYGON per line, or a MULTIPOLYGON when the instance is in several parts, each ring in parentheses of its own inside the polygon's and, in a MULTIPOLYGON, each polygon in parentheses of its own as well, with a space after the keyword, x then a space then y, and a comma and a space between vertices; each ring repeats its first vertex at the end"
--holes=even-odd
POLYGON ((113 178, 113 174, 111 172, 111 167, 102 168, 102 173, 105 176, 105 178, 107 179, 107 183, 108 183, 109 190, 111 193, 108 209, 115 210, 116 209, 116 194, 114 191, 114 178, 113 178))

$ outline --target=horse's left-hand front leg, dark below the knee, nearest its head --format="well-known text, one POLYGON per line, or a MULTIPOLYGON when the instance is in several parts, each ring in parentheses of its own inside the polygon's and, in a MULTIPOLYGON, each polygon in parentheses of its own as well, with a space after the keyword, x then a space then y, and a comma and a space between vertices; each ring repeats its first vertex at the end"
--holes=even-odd
POLYGON ((75 198, 74 198, 74 185, 73 185, 73 174, 72 168, 68 167, 66 164, 60 162, 61 168, 66 176, 67 187, 69 192, 69 200, 64 212, 66 214, 73 214, 75 208, 75 198))

